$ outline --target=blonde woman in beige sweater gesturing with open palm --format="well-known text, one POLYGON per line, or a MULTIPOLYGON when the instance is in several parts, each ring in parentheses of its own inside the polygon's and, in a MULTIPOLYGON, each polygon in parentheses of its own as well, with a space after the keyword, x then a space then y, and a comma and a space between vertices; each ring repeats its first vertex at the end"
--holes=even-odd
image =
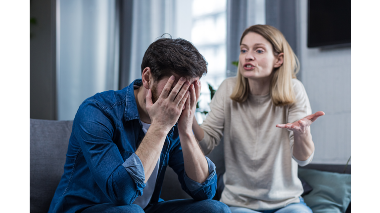
POLYGON ((205 154, 224 136, 220 201, 233 213, 312 212, 301 197, 297 164, 312 160, 310 124, 324 112, 311 114, 305 88, 295 76, 297 64, 279 30, 247 28, 240 39, 238 75, 220 85, 202 125, 193 120, 205 154))

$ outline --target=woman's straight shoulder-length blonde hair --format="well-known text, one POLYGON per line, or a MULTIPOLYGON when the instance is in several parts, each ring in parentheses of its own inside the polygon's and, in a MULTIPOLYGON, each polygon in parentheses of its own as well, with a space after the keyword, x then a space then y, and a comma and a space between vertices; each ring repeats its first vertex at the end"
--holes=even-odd
MULTIPOLYGON (((283 64, 275 68, 272 73, 272 80, 269 89, 272 102, 275 106, 285 106, 295 102, 292 78, 296 78, 299 71, 299 61, 284 35, 275 27, 270 25, 253 25, 245 29, 240 38, 240 45, 243 37, 248 33, 257 33, 267 39, 273 47, 275 55, 284 53, 283 64)), ((243 103, 249 94, 248 79, 240 74, 240 62, 238 65, 237 83, 230 98, 236 102, 243 103)))

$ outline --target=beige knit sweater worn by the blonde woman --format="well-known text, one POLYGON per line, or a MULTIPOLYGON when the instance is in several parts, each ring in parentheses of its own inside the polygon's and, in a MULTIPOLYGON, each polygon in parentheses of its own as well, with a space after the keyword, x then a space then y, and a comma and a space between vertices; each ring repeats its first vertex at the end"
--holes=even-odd
POLYGON ((292 159, 293 132, 276 127, 311 114, 304 86, 297 79, 292 83, 297 101, 288 106, 274 106, 269 94, 232 101, 236 77, 224 80, 215 93, 200 145, 208 154, 224 136, 223 203, 270 210, 299 202, 303 188, 292 159))

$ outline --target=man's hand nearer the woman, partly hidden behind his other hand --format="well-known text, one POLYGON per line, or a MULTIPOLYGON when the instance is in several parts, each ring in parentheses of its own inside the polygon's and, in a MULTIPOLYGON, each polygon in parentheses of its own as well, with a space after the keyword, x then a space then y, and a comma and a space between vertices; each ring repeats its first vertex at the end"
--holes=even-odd
POLYGON ((190 85, 190 97, 186 100, 185 109, 182 111, 178 120, 178 131, 181 133, 192 134, 192 120, 195 114, 196 103, 200 95, 201 84, 197 80, 190 85))

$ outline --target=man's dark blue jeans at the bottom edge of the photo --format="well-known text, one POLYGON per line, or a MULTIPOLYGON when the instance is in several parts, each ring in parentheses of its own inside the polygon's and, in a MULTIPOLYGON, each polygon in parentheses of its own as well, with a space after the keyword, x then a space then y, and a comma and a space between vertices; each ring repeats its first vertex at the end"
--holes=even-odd
POLYGON ((156 203, 145 210, 136 204, 115 206, 106 203, 87 208, 82 213, 231 213, 231 211, 226 204, 216 200, 180 199, 156 203))

